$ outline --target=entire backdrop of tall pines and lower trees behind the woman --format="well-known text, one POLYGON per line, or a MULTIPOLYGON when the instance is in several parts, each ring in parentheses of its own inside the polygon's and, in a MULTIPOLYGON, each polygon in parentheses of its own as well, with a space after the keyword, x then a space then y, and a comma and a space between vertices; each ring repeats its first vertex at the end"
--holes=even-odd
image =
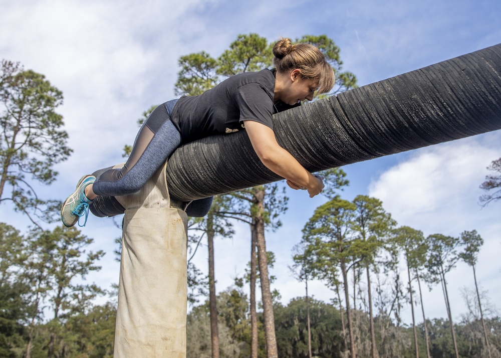
MULTIPOLYGON (((318 46, 331 63, 337 79, 332 94, 356 87, 356 77, 342 71, 340 49, 332 39, 297 40, 318 46)), ((239 35, 218 58, 203 51, 182 56, 176 94, 196 95, 235 73, 271 66, 270 45, 257 34, 239 35)), ((56 112, 62 93, 44 75, 8 60, 2 61, 0 87, 0 205, 9 205, 27 221, 25 228, 0 223, 0 356, 112 356, 115 289, 85 281, 101 269, 104 252, 89 251, 93 239, 76 228, 54 226, 61 203, 42 200, 31 185, 53 183, 53 165, 72 152, 56 112)), ((500 162, 491 163, 493 174, 481 186, 489 193, 481 198, 485 204, 499 199, 500 162)), ((287 210, 280 185, 218 196, 206 217, 190 220, 188 356, 501 356, 501 319, 476 281, 480 234, 470 228, 456 236, 424 236, 418 228, 398 226, 376 198, 342 199, 348 185, 342 169, 321 174, 326 202, 298 232, 291 253, 291 275, 304 283, 306 295, 298 292, 287 305, 273 288, 276 278, 269 270, 274 254, 266 250, 265 240, 267 231, 281 226, 287 210), (248 270, 217 294, 214 261, 219 253, 213 239, 232 237, 235 220, 249 225, 248 270), (202 247, 209 253, 208 275, 191 262, 202 247), (471 267, 471 278, 465 278, 471 289, 447 283, 459 261, 471 267), (311 297, 312 280, 332 289, 331 302, 311 297), (422 292, 428 287, 442 290, 445 319, 426 315, 422 292), (457 319, 459 312, 451 312, 449 303, 451 290, 459 289, 467 311, 457 319), (404 322, 401 312, 409 306, 412 322, 404 322)))

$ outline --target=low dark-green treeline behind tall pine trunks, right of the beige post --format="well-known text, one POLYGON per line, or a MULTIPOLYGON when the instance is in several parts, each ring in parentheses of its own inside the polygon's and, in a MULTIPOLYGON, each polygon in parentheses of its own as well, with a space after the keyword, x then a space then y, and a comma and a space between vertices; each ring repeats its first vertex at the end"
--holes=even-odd
MULTIPOLYGON (((314 356, 338 357, 346 355, 343 345, 341 316, 330 304, 310 298, 310 319, 312 330, 312 351, 314 356)), ((241 290, 241 280, 218 295, 219 335, 222 357, 244 357, 249 355, 250 322, 248 301, 241 290), (224 351, 223 351, 224 350, 224 351)), ((308 357, 308 329, 306 326, 306 297, 292 299, 287 305, 275 306, 276 336, 279 356, 291 358, 308 357)), ((354 331, 357 336, 357 356, 370 354, 368 334, 368 313, 353 310, 354 331)), ((266 357, 263 332, 263 315, 259 313, 259 356, 266 357)), ((210 357, 210 328, 208 302, 194 307, 187 318, 188 357, 210 357)), ((412 328, 397 326, 386 316, 375 317, 376 341, 380 357, 415 356, 412 344, 412 328)), ((438 318, 427 321, 431 355, 453 356, 449 322, 438 318)), ((489 327, 492 356, 501 352, 501 319, 486 320, 489 327)), ((454 325, 460 356, 487 356, 482 343, 479 320, 465 321, 454 325)), ((425 352, 424 326, 417 325, 418 346, 425 352)), ((424 355, 425 356, 425 355, 424 355)))

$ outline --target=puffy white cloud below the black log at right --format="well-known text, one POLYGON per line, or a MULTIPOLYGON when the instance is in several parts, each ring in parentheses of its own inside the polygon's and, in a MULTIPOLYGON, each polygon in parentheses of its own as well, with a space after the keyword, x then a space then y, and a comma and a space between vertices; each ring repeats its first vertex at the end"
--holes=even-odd
POLYGON ((479 213, 483 193, 478 186, 498 155, 499 145, 489 147, 477 138, 416 150, 372 182, 369 194, 381 199, 402 225, 443 230, 444 223, 456 226, 458 219, 466 219, 465 213, 479 213))

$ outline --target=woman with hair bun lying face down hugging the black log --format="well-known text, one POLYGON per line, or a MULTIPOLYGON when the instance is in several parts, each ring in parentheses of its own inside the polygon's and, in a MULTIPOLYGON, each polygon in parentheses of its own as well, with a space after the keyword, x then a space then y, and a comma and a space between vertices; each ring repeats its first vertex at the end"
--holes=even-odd
MULTIPOLYGON (((313 100, 315 92, 329 92, 334 72, 313 45, 293 45, 290 39, 281 39, 273 54, 273 70, 234 75, 199 96, 158 106, 139 130, 123 168, 80 179, 61 208, 63 224, 71 227, 84 215, 87 221, 89 204, 98 195, 139 191, 181 143, 243 128, 263 164, 286 178, 289 187, 308 190, 310 198, 319 194, 324 188, 322 178, 312 175, 277 143, 272 116, 313 100)), ((201 200, 207 210, 210 203, 211 198, 201 200)))

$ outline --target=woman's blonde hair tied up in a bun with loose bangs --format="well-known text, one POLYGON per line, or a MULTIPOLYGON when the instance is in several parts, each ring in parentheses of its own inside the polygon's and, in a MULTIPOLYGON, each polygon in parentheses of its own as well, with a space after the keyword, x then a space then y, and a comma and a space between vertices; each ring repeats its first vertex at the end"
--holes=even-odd
POLYGON ((317 83, 318 94, 329 92, 334 87, 334 71, 324 54, 310 44, 295 44, 283 38, 273 46, 273 64, 280 73, 300 69, 301 77, 317 83))

